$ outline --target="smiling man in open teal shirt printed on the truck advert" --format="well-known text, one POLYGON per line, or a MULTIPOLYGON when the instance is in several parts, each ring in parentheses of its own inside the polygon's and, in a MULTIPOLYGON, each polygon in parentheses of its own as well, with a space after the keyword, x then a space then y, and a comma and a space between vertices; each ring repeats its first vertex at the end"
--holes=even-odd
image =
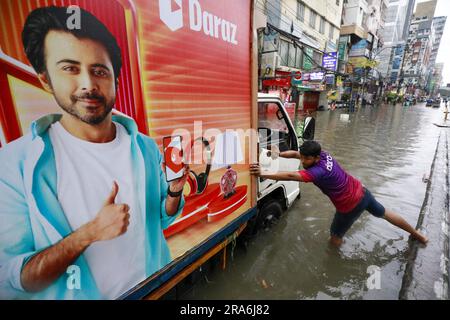
POLYGON ((0 297, 115 299, 171 261, 162 230, 184 206, 156 143, 112 116, 122 66, 114 36, 80 9, 32 11, 26 55, 62 114, 0 150, 0 297))

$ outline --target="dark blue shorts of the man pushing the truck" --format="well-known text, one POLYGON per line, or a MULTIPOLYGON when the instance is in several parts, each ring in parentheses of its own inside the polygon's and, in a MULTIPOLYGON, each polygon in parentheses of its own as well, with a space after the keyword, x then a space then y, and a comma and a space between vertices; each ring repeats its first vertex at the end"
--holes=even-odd
POLYGON ((333 222, 331 223, 330 234, 342 238, 344 234, 350 229, 352 224, 359 218, 364 210, 369 211, 375 217, 383 218, 385 209, 379 203, 369 190, 364 188, 364 196, 358 205, 348 213, 336 212, 333 222))

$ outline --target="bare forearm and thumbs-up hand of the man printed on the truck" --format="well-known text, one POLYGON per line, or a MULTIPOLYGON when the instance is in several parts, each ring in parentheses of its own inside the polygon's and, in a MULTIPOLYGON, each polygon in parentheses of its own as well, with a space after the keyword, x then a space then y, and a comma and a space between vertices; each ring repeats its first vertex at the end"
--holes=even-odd
POLYGON ((69 267, 89 245, 110 240, 126 232, 129 225, 129 206, 114 204, 119 191, 114 182, 111 194, 94 220, 84 224, 60 242, 34 255, 22 268, 20 281, 29 292, 47 288, 69 267))

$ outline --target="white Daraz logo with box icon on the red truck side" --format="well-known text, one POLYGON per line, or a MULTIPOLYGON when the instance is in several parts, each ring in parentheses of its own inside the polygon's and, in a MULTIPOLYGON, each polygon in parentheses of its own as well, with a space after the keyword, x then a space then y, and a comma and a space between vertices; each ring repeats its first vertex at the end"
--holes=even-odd
MULTIPOLYGON (((171 30, 177 31, 183 27, 182 0, 159 0, 159 17, 171 30), (172 4, 175 4, 174 6, 172 4)), ((202 11, 198 0, 189 0, 189 27, 216 39, 237 45, 237 26, 218 16, 202 11)))

